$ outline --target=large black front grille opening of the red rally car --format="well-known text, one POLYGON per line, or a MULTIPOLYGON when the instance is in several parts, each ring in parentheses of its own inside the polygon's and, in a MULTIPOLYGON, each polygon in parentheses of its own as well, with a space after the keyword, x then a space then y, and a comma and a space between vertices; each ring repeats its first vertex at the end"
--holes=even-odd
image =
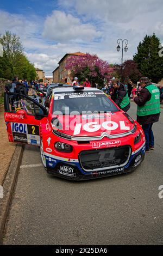
POLYGON ((79 161, 87 172, 92 170, 111 169, 127 164, 131 154, 129 146, 82 151, 79 161))

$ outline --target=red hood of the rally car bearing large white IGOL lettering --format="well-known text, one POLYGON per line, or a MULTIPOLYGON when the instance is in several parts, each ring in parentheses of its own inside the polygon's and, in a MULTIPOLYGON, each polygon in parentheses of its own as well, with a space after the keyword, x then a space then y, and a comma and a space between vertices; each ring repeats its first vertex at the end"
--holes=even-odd
POLYGON ((87 115, 58 115, 52 119, 54 130, 77 137, 101 136, 103 133, 116 135, 129 132, 133 129, 135 122, 129 120, 128 115, 122 111, 105 114, 87 115))

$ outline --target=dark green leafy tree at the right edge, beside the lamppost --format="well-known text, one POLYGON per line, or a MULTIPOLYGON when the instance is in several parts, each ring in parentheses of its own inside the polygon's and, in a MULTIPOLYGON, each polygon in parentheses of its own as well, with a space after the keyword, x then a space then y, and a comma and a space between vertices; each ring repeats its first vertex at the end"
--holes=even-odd
POLYGON ((142 76, 157 83, 163 77, 163 57, 159 57, 160 39, 155 35, 146 35, 137 47, 134 61, 142 76))

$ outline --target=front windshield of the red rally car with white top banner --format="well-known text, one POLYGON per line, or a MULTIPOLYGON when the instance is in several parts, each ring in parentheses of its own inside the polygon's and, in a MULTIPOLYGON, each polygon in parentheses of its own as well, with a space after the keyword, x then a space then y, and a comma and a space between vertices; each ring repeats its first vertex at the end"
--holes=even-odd
POLYGON ((62 93, 54 95, 53 114, 73 115, 85 112, 116 112, 119 109, 102 92, 62 93), (73 113, 72 113, 73 112, 73 113), (77 113, 74 113, 77 112, 77 113))

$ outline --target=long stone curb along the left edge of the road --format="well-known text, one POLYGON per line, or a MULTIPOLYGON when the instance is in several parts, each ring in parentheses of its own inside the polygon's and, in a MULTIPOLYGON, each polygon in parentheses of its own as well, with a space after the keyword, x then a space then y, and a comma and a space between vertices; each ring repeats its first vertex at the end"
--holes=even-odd
POLYGON ((3 183, 3 199, 0 198, 0 245, 3 245, 3 230, 14 190, 18 169, 21 163, 24 145, 16 145, 14 155, 3 183))

